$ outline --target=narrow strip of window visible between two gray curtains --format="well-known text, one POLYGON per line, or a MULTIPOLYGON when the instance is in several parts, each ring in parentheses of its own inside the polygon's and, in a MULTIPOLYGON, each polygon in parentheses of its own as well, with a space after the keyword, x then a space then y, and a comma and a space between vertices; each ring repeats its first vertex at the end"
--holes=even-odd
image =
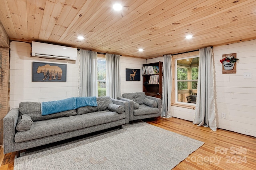
POLYGON ((106 59, 97 59, 98 96, 106 96, 106 59))

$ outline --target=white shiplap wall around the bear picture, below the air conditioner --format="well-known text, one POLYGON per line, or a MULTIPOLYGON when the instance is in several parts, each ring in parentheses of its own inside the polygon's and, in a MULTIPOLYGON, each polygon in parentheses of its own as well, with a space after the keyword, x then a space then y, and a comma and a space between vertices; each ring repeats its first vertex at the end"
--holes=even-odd
POLYGON ((46 102, 77 96, 78 60, 31 57, 31 44, 10 43, 10 109, 20 102, 46 102), (66 82, 32 82, 32 62, 67 64, 66 82))

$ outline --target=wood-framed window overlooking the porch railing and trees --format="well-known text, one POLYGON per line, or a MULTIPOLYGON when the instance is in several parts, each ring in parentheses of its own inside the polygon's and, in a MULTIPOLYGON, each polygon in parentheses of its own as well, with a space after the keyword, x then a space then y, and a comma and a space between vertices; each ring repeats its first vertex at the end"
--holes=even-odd
POLYGON ((199 57, 186 57, 176 62, 176 102, 196 103, 199 57), (190 100, 192 99, 192 100, 190 100))

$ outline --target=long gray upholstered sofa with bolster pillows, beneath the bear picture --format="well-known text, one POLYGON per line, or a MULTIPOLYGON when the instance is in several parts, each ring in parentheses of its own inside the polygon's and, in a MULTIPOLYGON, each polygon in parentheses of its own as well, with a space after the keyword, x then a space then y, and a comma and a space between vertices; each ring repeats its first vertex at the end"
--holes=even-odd
POLYGON ((84 106, 41 115, 41 103, 21 102, 4 117, 4 154, 62 141, 129 122, 128 102, 98 97, 84 106))

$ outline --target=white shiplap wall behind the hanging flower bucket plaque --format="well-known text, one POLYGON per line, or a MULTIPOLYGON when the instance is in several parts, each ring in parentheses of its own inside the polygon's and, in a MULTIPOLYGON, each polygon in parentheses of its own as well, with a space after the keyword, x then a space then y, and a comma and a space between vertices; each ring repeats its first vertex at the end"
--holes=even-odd
POLYGON ((256 40, 213 48, 217 127, 256 137, 256 40), (236 53, 236 74, 222 74, 223 54, 236 53), (252 78, 244 78, 251 72, 252 78), (226 118, 221 114, 226 113, 226 118))

